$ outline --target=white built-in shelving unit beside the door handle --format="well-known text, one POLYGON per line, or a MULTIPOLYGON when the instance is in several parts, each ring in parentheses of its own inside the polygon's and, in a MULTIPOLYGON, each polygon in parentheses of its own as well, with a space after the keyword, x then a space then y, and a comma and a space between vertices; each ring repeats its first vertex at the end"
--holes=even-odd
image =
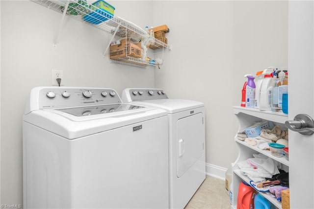
MULTIPOLYGON (((246 108, 240 106, 233 106, 233 111, 238 119, 240 126, 238 131, 243 131, 249 126, 253 125, 255 122, 260 121, 272 121, 275 125, 278 125, 284 129, 285 121, 288 120, 288 115, 280 112, 272 112, 272 111, 262 111, 254 108, 246 108)), ((275 157, 270 154, 268 150, 261 150, 256 146, 250 146, 246 142, 238 140, 235 135, 235 143, 239 147, 239 155, 235 162, 232 164, 233 170, 233 208, 236 208, 236 201, 238 195, 238 186, 241 181, 245 181, 246 183, 250 183, 250 179, 241 174, 239 168, 237 166, 238 162, 246 160, 248 158, 252 158, 253 154, 262 154, 267 157, 270 157, 279 163, 281 163, 282 169, 288 172, 289 169, 289 161, 285 157, 275 157)), ((269 192, 259 192, 263 197, 269 200, 276 208, 281 209, 281 202, 277 201, 274 195, 269 192)))

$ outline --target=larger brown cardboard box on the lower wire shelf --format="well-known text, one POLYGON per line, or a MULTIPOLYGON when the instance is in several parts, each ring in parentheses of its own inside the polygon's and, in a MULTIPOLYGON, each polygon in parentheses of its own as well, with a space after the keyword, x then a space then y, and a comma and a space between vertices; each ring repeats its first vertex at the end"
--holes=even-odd
POLYGON ((142 57, 141 43, 133 44, 130 42, 130 38, 121 39, 120 44, 118 42, 116 42, 117 44, 110 45, 109 47, 110 59, 124 58, 128 56, 134 58, 142 57))

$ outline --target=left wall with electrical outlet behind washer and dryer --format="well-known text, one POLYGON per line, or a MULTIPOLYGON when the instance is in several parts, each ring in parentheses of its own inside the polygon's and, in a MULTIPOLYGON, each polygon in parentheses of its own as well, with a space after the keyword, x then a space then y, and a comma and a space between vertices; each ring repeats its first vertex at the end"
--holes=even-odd
MULTIPOLYGON (((152 23, 146 10, 151 1, 111 3, 117 16, 143 27, 152 23), (138 10, 140 14, 134 13, 138 10)), ((10 205, 22 204, 22 116, 32 87, 52 85, 51 70, 58 69, 63 70, 67 86, 110 87, 121 94, 134 85, 154 87, 154 68, 103 59, 108 34, 69 18, 53 48, 60 13, 32 1, 1 0, 0 4, 1 204, 10 205)))

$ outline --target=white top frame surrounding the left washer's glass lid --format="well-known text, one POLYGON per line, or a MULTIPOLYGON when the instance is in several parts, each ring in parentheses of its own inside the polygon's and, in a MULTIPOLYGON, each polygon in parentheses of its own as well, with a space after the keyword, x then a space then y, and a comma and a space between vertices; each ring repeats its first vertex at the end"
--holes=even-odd
MULTIPOLYGON (((95 108, 96 111, 98 107, 97 110, 101 111, 100 107, 102 106, 103 105, 90 106, 90 108, 95 108)), ((38 109, 24 115, 23 120, 26 123, 63 136, 67 139, 76 139, 136 123, 145 123, 145 121, 148 120, 167 116, 165 110, 155 107, 140 107, 135 109, 132 109, 131 107, 134 107, 134 105, 125 104, 120 108, 127 108, 127 110, 113 111, 106 114, 86 114, 81 116, 75 115, 79 112, 77 110, 74 111, 75 114, 72 114, 72 110, 70 109, 38 109), (70 111, 71 113, 67 111, 70 111)), ((132 131, 130 131, 130 133, 131 132, 132 131)))

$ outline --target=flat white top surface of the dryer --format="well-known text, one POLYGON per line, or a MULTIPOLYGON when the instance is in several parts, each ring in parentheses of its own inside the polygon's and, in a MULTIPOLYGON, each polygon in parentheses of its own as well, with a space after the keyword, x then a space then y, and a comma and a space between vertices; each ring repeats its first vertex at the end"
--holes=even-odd
POLYGON ((146 100, 131 102, 131 104, 142 104, 146 106, 154 106, 166 110, 169 114, 182 112, 189 109, 204 106, 204 103, 190 101, 190 100, 176 100, 176 99, 163 99, 163 100, 146 100))

